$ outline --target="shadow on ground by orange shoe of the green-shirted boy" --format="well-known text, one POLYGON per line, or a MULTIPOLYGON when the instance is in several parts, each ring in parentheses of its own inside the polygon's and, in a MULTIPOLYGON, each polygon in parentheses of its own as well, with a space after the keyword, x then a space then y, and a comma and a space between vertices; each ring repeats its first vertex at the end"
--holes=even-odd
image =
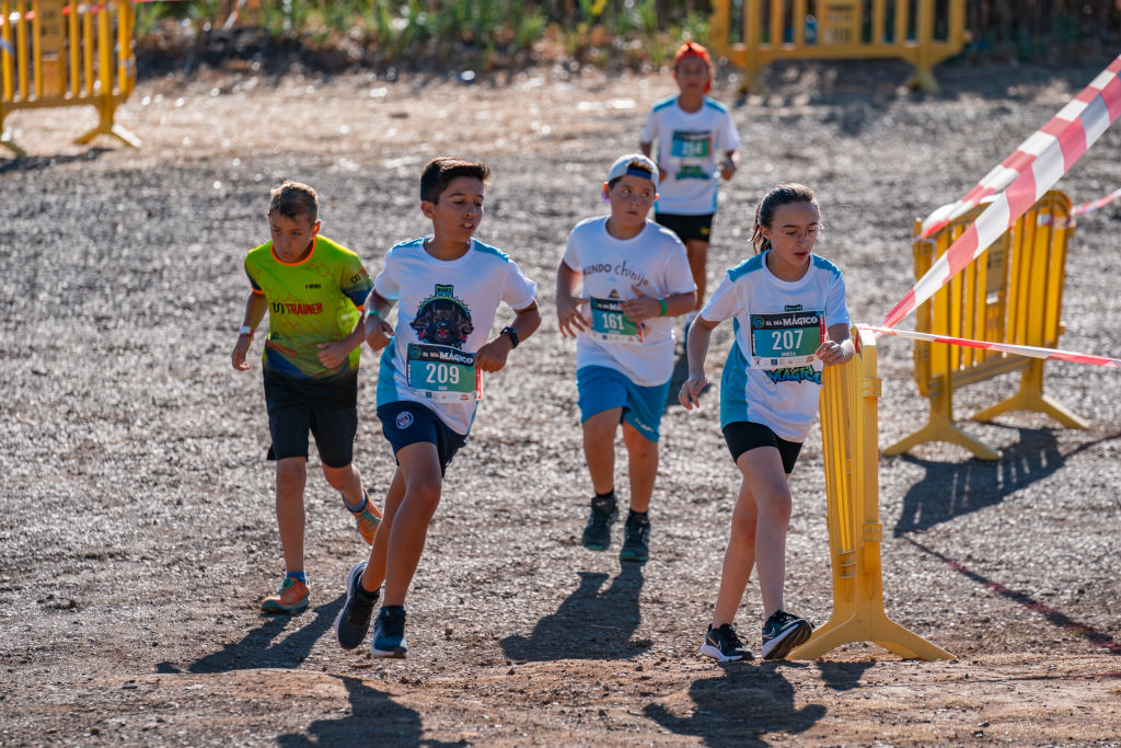
MULTIPOLYGON (((298 667, 312 652, 312 647, 334 624, 335 615, 343 604, 340 594, 331 602, 312 609, 315 617, 276 640, 289 622, 303 622, 304 616, 270 616, 263 624, 245 634, 240 641, 228 644, 219 652, 201 657, 192 663, 191 673, 228 673, 251 667, 298 667)), ((160 663, 160 666, 166 666, 160 663)), ((172 672, 163 669, 161 672, 172 672)))

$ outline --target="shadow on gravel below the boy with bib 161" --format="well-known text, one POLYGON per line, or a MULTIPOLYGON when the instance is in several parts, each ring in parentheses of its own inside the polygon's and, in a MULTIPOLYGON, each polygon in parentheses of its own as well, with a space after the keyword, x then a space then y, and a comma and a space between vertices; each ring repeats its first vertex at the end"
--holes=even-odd
POLYGON ((605 592, 608 575, 578 572, 580 585, 555 613, 537 621, 528 637, 516 634, 499 644, 510 659, 629 659, 652 646, 647 639, 631 640, 642 617, 638 597, 642 566, 623 564, 605 592))

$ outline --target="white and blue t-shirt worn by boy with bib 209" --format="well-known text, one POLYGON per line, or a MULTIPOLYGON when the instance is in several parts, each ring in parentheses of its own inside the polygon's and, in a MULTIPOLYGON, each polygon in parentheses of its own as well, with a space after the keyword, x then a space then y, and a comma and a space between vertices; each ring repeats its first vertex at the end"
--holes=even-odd
POLYGON ((487 343, 499 302, 524 310, 534 303, 537 284, 507 255, 476 239, 454 260, 438 260, 425 251, 429 239, 395 244, 373 280, 382 298, 397 302, 397 330, 378 372, 378 405, 423 403, 452 431, 466 435, 478 400, 435 398, 446 397, 450 386, 454 389, 474 376, 463 354, 487 343))

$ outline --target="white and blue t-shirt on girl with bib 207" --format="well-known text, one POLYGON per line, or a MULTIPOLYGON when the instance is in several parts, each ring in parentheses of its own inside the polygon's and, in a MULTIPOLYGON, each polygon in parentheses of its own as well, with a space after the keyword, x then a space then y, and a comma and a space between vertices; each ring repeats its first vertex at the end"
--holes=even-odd
POLYGON ((835 265, 810 255, 806 275, 781 280, 768 269, 767 255, 728 270, 701 310, 710 322, 734 317, 735 342, 721 376, 720 427, 751 421, 788 442, 802 442, 817 415, 822 363, 781 363, 812 353, 830 326, 849 324, 844 277, 835 265), (815 335, 821 338, 816 343, 815 335))

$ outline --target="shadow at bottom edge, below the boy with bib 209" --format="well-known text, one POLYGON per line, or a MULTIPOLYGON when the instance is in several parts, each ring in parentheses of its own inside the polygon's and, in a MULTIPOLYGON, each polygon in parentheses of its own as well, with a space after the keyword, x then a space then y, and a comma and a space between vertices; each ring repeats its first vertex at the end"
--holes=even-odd
POLYGON ((277 737, 279 746, 460 746, 461 742, 421 740, 420 715, 371 689, 356 677, 342 677, 351 713, 336 720, 316 720, 304 732, 277 737))

